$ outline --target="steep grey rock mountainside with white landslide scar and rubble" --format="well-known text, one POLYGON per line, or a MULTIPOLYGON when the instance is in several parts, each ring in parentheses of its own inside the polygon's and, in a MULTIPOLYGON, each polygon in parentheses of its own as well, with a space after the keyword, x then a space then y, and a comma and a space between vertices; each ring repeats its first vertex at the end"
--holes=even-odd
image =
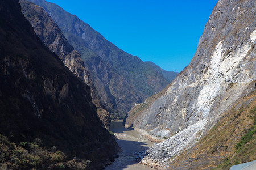
MULTIPOLYGON (((253 0, 218 1, 189 65, 163 91, 131 110, 126 120, 128 126, 145 130, 153 137, 168 138, 148 150, 142 163, 168 166, 174 156, 190 152, 189 148, 236 105, 233 113, 237 114, 243 97, 250 96, 245 107, 249 103, 249 107, 255 106, 251 103, 255 100, 251 93, 255 91, 256 82, 255 14, 253 0)), ((245 114, 254 116, 253 112, 245 114)), ((236 126, 251 126, 249 121, 242 122, 237 121, 236 126)), ((218 143, 217 136, 214 140, 218 143)), ((202 168, 212 164, 210 159, 196 161, 201 161, 202 168)), ((191 162, 193 159, 187 161, 188 167, 191 162)))

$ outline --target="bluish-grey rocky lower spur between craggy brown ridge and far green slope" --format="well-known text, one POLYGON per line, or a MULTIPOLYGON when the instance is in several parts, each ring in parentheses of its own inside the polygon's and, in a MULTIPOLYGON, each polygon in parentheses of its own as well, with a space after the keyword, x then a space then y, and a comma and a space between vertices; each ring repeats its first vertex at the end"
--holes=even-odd
POLYGON ((86 63, 92 75, 92 79, 96 81, 97 88, 106 108, 112 111, 114 118, 123 118, 129 112, 135 103, 141 103, 142 94, 137 91, 130 83, 117 74, 111 67, 106 65, 100 57, 91 57, 86 63), (101 75, 101 76, 98 76, 101 75))

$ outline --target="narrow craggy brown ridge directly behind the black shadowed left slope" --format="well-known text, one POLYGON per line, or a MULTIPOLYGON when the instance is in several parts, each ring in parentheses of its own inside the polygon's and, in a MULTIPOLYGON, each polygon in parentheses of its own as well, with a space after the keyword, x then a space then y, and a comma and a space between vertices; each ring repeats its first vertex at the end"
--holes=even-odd
POLYGON ((24 16, 31 23, 36 35, 38 35, 44 45, 56 53, 72 73, 90 86, 93 103, 97 107, 98 116, 106 128, 109 129, 110 114, 102 106, 101 98, 94 87, 89 72, 84 68, 84 62, 79 52, 74 50, 73 46, 68 43, 58 25, 42 7, 25 0, 20 0, 19 2, 22 6, 24 16))

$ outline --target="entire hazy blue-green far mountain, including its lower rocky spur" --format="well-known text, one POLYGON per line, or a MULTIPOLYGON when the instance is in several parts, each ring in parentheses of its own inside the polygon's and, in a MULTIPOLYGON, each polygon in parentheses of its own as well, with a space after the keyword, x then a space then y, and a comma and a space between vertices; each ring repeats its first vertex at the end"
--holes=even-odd
MULTIPOLYGON (((95 73, 95 76, 92 75, 92 79, 96 84, 97 90, 98 88, 105 88, 110 92, 115 101, 112 104, 117 105, 118 109, 115 109, 117 112, 125 111, 127 113, 135 103, 141 103, 146 97, 159 92, 170 82, 155 67, 142 62, 136 56, 123 52, 75 15, 69 14, 53 3, 43 0, 30 1, 45 8, 64 32, 69 43, 82 54, 85 65, 88 64, 90 73, 95 73), (93 54, 92 51, 101 58, 95 57, 95 53, 93 54), (92 66, 93 70, 90 70, 92 69, 90 66, 92 66), (102 68, 102 66, 104 67, 102 68), (112 72, 102 74, 101 70, 109 71, 108 67, 112 72), (112 76, 113 74, 114 76, 112 76), (107 79, 106 76, 108 76, 107 79), (125 82, 118 84, 119 79, 116 78, 122 78, 125 82), (97 87, 97 84, 101 82, 104 82, 107 86, 97 87), (128 86, 129 84, 130 86, 128 86), (121 85, 126 86, 122 87, 121 85), (123 88, 125 91, 118 92, 119 88, 123 88), (129 100, 129 102, 126 102, 126 100, 129 100), (122 106, 126 106, 126 108, 122 108, 122 106)), ((110 96, 108 99, 112 99, 110 94, 103 95, 108 95, 110 96)), ((108 102, 107 100, 105 101, 108 102)))

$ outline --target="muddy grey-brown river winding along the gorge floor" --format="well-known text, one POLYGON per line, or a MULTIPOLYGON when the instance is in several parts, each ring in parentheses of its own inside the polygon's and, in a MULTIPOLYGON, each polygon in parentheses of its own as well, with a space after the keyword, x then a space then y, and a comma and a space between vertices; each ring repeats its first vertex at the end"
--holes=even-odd
POLYGON ((122 152, 119 152, 119 158, 106 167, 107 170, 148 170, 151 169, 146 165, 139 164, 135 159, 138 158, 139 152, 147 150, 154 143, 148 141, 138 131, 129 130, 122 126, 122 121, 112 121, 110 130, 115 133, 118 138, 117 143, 122 148, 122 152))

